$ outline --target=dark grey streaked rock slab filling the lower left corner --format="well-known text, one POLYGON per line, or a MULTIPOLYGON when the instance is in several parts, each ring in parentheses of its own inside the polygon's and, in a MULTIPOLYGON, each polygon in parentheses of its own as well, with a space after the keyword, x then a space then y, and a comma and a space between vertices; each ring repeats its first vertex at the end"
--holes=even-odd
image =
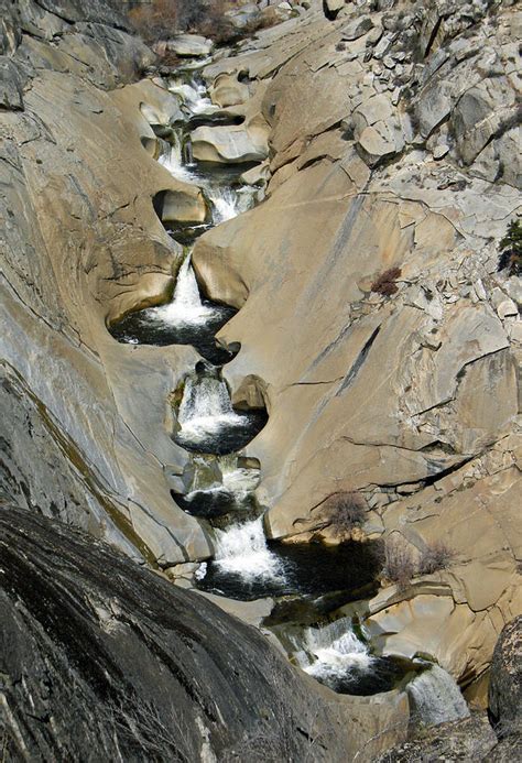
POLYGON ((254 629, 34 512, 0 508, 0 547, 7 760, 341 760, 254 629))

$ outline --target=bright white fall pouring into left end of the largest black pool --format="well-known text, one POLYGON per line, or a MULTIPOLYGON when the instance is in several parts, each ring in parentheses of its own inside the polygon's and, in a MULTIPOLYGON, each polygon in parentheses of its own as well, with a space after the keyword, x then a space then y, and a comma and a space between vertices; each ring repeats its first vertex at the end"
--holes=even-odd
POLYGON ((216 530, 215 564, 224 573, 241 575, 244 580, 283 580, 283 568, 267 545, 263 520, 216 530))

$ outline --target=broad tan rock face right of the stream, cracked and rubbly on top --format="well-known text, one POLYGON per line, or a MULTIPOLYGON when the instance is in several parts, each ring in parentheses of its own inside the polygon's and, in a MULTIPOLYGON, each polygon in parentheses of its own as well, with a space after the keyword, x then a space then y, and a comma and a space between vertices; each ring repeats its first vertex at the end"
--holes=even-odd
POLYGON ((241 345, 226 368, 235 401, 270 414, 248 448, 269 533, 335 542, 323 505, 355 491, 363 536, 413 559, 450 548, 446 570, 359 611, 387 653, 428 652, 483 707, 494 643, 522 607, 521 295, 498 271, 520 205, 520 12, 339 11, 205 69, 264 88, 270 179, 193 262, 240 308, 219 335, 241 345))

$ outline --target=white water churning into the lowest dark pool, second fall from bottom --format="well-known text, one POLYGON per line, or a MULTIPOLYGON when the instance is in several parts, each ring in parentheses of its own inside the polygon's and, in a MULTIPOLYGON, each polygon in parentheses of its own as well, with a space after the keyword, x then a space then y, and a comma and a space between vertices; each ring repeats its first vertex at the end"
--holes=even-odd
POLYGON ((349 618, 320 629, 308 628, 300 646, 295 652, 298 665, 325 684, 354 669, 370 671, 373 662, 368 646, 354 633, 349 618))

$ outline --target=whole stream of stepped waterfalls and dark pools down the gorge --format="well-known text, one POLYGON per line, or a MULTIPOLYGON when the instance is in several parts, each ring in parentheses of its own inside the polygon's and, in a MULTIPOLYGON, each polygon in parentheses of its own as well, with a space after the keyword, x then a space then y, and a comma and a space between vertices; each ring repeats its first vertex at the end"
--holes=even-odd
POLYGON ((405 688, 411 705, 427 722, 468 715, 455 680, 433 663, 381 656, 351 617, 338 614, 350 601, 370 598, 380 571, 379 544, 284 544, 267 538, 263 508, 255 489, 261 466, 244 451, 267 424, 264 408, 236 410, 222 368, 240 347, 222 347, 216 334, 237 310, 202 294, 192 266, 195 240, 205 230, 231 220, 262 200, 257 187, 241 179, 252 165, 208 165, 194 161, 191 130, 224 123, 195 66, 167 81, 186 119, 151 124, 160 142, 157 161, 176 178, 198 186, 209 219, 197 226, 170 225, 184 247, 172 301, 127 315, 109 327, 115 339, 140 345, 192 345, 199 353, 183 384, 174 391, 172 438, 188 454, 183 490, 176 504, 205 523, 214 557, 199 565, 197 588, 237 600, 273 598, 271 628, 289 658, 335 691, 372 695, 405 688), (335 612, 337 611, 337 614, 335 612))

